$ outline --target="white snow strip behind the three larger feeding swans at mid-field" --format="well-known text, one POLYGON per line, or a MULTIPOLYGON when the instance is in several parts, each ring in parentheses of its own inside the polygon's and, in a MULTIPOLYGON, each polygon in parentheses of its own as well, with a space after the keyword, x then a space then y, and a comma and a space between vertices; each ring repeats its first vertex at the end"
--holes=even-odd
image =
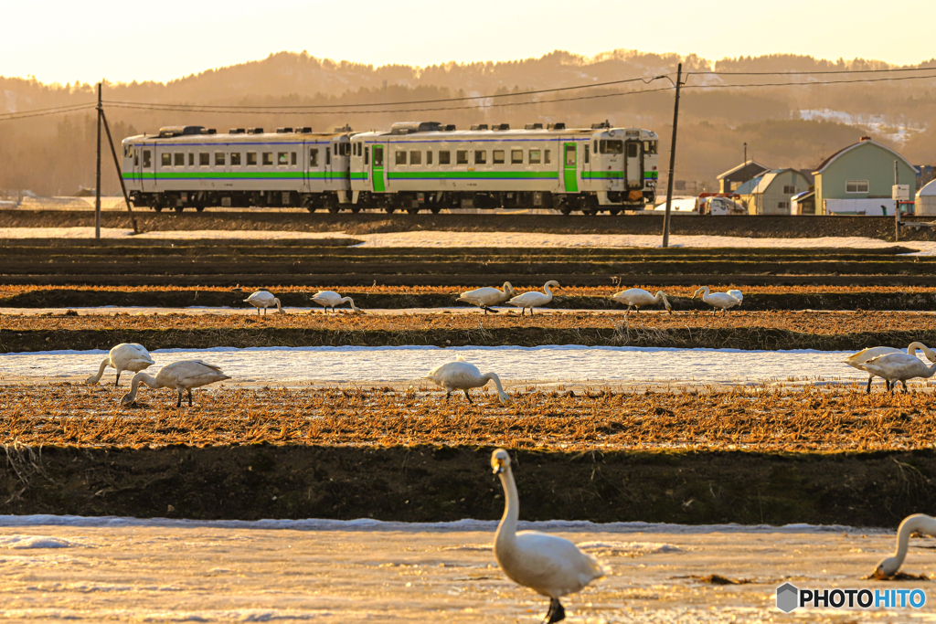
MULTIPOLYGON (((204 359, 242 385, 425 385, 432 368, 462 356, 505 385, 829 385, 867 381, 844 352, 644 347, 275 347, 160 349, 154 370, 204 359)), ((105 351, 0 355, 0 383, 81 382, 105 351)), ((112 372, 112 371, 111 371, 112 372)), ((129 377, 124 376, 124 384, 129 377)))

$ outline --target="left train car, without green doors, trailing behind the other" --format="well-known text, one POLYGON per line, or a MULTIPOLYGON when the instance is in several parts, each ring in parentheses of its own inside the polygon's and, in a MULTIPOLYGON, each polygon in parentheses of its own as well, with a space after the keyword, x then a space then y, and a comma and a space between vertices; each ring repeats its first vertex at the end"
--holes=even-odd
POLYGON ((123 176, 131 200, 157 212, 208 206, 301 206, 338 211, 350 201, 351 128, 168 126, 124 138, 123 176))

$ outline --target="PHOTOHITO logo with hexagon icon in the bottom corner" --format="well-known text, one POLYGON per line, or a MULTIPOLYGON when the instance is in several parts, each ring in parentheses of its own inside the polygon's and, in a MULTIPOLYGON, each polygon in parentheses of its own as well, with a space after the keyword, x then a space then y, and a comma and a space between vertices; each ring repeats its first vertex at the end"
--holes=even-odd
POLYGON ((832 609, 920 609, 927 603, 923 589, 800 589, 792 583, 777 588, 777 608, 790 613, 799 607, 832 609))

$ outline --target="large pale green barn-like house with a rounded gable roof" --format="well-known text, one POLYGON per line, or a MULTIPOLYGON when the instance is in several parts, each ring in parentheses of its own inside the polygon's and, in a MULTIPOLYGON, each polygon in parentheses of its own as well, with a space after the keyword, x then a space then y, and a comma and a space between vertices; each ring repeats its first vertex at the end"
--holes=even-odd
POLYGON ((835 152, 812 172, 819 214, 893 214, 894 161, 899 183, 916 192, 916 171, 906 158, 870 137, 835 152))

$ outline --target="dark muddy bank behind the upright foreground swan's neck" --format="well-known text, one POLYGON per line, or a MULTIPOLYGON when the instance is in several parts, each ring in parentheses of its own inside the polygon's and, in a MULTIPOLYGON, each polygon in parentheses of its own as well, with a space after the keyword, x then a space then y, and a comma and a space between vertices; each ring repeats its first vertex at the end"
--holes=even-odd
MULTIPOLYGON (((7 447, 7 514, 496 519, 490 447, 7 447)), ((933 451, 517 451, 524 519, 895 526, 936 507, 933 451)))

